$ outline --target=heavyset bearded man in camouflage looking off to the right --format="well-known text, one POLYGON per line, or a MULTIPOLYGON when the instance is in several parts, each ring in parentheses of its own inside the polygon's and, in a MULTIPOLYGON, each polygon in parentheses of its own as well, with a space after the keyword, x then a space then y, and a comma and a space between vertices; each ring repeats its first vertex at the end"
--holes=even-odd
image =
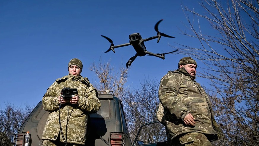
POLYGON ((195 60, 183 57, 178 69, 161 79, 157 118, 166 125, 169 145, 212 145, 222 136, 209 97, 195 81, 196 67, 195 60))

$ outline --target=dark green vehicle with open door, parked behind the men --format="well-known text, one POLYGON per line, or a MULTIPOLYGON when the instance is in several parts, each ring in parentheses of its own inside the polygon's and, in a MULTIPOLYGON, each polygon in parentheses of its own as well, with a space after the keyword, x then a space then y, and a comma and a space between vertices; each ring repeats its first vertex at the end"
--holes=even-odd
MULTIPOLYGON (((156 146, 167 145, 166 140, 144 144, 144 140, 138 138, 144 126, 161 124, 158 121, 147 123, 141 126, 134 139, 131 140, 127 128, 122 102, 112 94, 98 92, 101 108, 96 113, 89 114, 87 126, 87 146, 156 146)), ((42 107, 42 101, 34 108, 21 126, 19 133, 15 134, 14 146, 24 146, 24 136, 27 131, 31 135, 29 146, 42 145, 42 132, 45 127, 49 112, 42 107)), ((166 133, 162 137, 166 139, 166 133)), ((159 140, 159 139, 158 139, 159 140)))

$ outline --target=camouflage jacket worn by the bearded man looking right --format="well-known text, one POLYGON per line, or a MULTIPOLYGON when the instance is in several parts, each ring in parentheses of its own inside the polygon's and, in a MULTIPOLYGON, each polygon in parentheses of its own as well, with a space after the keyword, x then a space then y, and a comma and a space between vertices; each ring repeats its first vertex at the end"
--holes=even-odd
MULTIPOLYGON (((200 84, 190 78, 183 67, 169 71, 163 76, 158 97, 164 107, 159 109, 164 111, 158 111, 160 114, 157 116, 164 116, 171 139, 189 132, 203 133, 209 141, 217 140, 222 136, 214 120, 212 106, 206 92, 200 84), (183 118, 188 113, 195 118, 195 126, 184 124, 183 118)), ((158 119, 162 118, 158 117, 158 119)))

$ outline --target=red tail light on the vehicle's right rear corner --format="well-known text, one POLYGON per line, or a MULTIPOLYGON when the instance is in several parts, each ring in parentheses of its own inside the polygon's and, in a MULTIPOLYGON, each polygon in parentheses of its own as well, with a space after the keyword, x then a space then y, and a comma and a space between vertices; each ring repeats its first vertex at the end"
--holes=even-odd
POLYGON ((110 146, 118 146, 125 145, 125 138, 123 132, 111 132, 109 135, 109 145, 110 146))

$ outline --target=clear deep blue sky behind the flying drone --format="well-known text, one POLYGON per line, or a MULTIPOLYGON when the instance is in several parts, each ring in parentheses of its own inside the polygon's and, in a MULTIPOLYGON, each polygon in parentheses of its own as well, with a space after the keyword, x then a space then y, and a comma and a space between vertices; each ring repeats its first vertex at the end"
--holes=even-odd
MULTIPOLYGON (((110 43, 100 35, 111 38, 115 45, 128 43, 132 33, 139 32, 143 38, 155 36, 155 23, 164 19, 159 31, 176 38, 145 42, 148 51, 173 51, 169 44, 176 43, 199 45, 180 34, 180 29, 187 29, 184 24, 188 24, 181 4, 201 9, 198 1, 193 0, 0 1, 0 106, 36 105, 55 79, 68 74, 67 65, 72 58, 82 60, 81 75, 93 83, 97 81, 89 70, 93 62, 98 63, 100 58, 103 63, 111 60, 118 70, 136 54, 132 46, 105 54, 110 43)), ((204 26, 204 31, 210 31, 209 25, 204 26)), ((147 77, 160 80, 168 70, 177 69, 182 57, 137 57, 130 67, 127 85, 137 87, 147 77)), ((197 81, 204 84, 202 79, 197 81)))

